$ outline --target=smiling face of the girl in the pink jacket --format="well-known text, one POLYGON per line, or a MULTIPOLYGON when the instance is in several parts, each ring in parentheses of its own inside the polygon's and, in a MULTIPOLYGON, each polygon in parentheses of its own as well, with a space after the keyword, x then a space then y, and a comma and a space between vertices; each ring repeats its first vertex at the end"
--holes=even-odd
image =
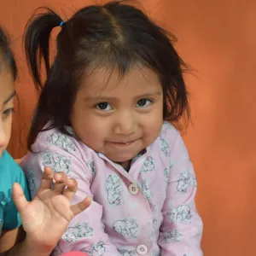
POLYGON ((71 123, 86 145, 128 167, 161 131, 163 92, 157 75, 137 66, 122 79, 118 71, 110 77, 106 70, 90 74, 77 93, 71 123))

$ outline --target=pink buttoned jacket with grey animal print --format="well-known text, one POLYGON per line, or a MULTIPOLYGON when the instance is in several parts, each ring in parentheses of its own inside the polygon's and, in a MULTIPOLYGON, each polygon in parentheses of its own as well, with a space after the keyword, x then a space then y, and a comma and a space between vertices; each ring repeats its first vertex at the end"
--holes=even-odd
POLYGON ((42 132, 33 150, 40 153, 28 153, 21 163, 32 197, 44 166, 78 181, 73 203, 93 196, 91 206, 73 218, 53 255, 202 255, 195 172, 172 125, 164 123, 155 142, 132 160, 129 172, 56 130, 42 132))

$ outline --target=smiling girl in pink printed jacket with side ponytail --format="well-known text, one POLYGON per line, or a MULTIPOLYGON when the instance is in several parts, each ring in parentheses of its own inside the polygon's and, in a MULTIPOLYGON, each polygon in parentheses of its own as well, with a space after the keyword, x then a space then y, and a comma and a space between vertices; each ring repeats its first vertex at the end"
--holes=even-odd
POLYGON ((27 26, 26 57, 42 89, 22 162, 32 196, 50 166, 77 179, 73 203, 94 198, 54 255, 202 255, 195 173, 167 122, 189 112, 185 65, 170 37, 123 2, 80 9, 65 22, 47 9, 27 26))

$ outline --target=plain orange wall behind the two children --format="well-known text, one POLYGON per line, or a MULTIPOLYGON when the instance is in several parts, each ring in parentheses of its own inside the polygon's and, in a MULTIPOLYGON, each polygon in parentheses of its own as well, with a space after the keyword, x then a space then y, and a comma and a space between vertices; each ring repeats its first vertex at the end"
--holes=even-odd
MULTIPOLYGON (((93 3, 52 2, 0 1, 0 24, 13 38, 20 65, 20 110, 15 114, 9 146, 15 157, 26 152, 27 128, 21 132, 21 143, 18 139, 36 102, 20 46, 26 20, 42 4, 69 14, 70 9, 93 3)), ((160 25, 176 33, 178 51, 197 70, 194 77, 187 77, 194 124, 184 138, 198 177, 197 204, 205 225, 205 255, 256 255, 256 2, 141 2, 160 25)))

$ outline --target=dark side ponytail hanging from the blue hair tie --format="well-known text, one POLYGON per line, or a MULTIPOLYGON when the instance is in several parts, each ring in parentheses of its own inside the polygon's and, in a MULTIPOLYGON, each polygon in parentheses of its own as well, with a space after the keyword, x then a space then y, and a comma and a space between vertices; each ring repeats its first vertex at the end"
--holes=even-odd
POLYGON ((53 10, 45 9, 46 13, 34 15, 26 25, 25 52, 26 61, 32 79, 38 90, 42 89, 41 63, 44 60, 46 78, 49 78, 49 38, 55 26, 62 23, 61 17, 53 10))

